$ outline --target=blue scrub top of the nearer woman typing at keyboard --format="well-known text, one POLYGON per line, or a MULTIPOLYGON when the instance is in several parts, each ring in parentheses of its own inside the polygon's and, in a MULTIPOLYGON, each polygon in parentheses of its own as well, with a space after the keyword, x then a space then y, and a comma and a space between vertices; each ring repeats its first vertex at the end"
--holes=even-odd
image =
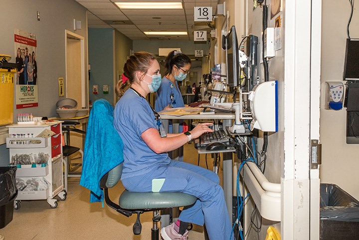
POLYGON ((167 153, 155 153, 141 138, 147 129, 158 129, 155 115, 145 98, 128 89, 115 106, 113 122, 124 145, 121 179, 143 175, 160 165, 170 164, 167 153))

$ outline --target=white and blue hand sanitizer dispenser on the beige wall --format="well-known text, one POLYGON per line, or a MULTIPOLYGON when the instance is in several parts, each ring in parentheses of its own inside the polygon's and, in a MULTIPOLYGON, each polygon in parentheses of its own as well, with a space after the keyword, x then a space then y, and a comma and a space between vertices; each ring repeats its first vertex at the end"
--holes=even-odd
POLYGON ((326 82, 325 109, 341 110, 343 108, 343 82, 326 82))

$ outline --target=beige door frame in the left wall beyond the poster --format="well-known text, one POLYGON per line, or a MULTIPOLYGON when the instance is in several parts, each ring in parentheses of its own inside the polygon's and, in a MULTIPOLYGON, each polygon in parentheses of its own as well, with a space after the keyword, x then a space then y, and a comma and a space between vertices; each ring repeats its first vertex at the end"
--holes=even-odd
POLYGON ((67 38, 77 38, 81 45, 81 107, 87 107, 85 82, 85 37, 65 29, 65 97, 67 97, 67 38))

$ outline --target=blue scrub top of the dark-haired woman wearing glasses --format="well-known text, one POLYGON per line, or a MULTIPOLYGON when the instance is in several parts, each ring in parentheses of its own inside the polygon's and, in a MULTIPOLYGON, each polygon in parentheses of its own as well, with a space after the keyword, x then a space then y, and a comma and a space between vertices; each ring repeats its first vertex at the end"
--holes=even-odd
POLYGON ((162 78, 161 86, 156 92, 155 110, 162 111, 167 105, 171 107, 184 107, 182 94, 179 91, 178 82, 173 84, 167 77, 162 78), (173 100, 171 95, 173 94, 173 100))

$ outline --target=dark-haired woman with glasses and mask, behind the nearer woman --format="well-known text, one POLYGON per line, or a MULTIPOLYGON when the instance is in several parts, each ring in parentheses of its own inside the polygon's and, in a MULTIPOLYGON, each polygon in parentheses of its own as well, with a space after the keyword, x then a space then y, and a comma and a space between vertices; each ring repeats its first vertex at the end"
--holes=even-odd
POLYGON ((183 81, 190 70, 189 57, 180 50, 170 52, 166 58, 166 75, 156 92, 155 110, 160 112, 166 108, 184 107, 178 82, 183 81))

